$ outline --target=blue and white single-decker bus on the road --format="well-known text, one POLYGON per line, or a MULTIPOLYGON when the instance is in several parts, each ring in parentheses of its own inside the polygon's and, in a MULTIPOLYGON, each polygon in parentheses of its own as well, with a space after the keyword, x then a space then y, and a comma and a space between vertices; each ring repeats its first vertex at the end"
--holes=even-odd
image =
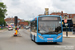
POLYGON ((31 40, 37 42, 62 42, 62 17, 41 15, 31 21, 31 40))

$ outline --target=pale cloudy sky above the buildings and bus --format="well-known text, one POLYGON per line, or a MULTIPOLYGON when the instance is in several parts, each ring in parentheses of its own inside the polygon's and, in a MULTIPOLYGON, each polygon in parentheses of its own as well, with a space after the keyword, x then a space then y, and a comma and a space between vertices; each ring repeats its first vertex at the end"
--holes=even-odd
POLYGON ((7 6, 7 17, 18 16, 24 20, 32 20, 44 14, 45 8, 51 12, 75 13, 75 0, 0 0, 7 6))

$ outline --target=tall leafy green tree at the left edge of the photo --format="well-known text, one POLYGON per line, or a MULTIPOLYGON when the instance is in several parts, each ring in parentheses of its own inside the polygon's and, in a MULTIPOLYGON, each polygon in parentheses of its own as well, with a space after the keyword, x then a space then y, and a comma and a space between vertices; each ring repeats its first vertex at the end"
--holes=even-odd
POLYGON ((4 24, 4 18, 7 15, 6 14, 7 9, 6 9, 6 5, 4 5, 3 2, 0 2, 0 25, 4 24))

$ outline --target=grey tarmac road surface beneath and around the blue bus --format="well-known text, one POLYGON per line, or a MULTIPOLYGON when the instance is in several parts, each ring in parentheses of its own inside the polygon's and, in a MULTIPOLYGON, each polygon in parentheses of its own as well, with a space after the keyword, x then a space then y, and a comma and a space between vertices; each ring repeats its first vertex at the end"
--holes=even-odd
POLYGON ((14 30, 0 32, 0 50, 75 50, 75 38, 63 38, 57 44, 36 44, 25 29, 19 30, 21 37, 13 37, 14 33, 14 30))

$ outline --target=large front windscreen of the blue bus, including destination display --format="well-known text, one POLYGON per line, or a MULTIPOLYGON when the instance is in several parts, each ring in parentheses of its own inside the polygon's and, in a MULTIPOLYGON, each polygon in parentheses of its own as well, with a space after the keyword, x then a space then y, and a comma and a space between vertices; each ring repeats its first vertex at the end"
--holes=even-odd
POLYGON ((47 17, 47 18, 39 17, 38 26, 39 26, 38 28, 39 33, 43 34, 61 33, 61 19, 59 17, 47 17))

